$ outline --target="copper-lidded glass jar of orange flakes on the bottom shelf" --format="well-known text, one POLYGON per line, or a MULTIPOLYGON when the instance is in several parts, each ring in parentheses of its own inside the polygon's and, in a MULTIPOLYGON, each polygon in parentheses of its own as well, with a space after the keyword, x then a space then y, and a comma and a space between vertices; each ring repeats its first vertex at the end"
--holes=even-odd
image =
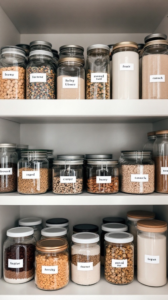
POLYGON ((35 286, 43 290, 62 289, 68 284, 69 251, 65 239, 45 238, 36 243, 34 280, 35 286))

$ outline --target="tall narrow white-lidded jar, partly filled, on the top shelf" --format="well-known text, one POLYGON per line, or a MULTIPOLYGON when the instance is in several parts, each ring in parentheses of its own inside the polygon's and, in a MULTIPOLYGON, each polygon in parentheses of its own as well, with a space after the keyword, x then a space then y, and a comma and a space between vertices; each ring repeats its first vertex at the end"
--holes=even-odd
POLYGON ((86 99, 110 99, 109 52, 102 44, 87 48, 86 99))

